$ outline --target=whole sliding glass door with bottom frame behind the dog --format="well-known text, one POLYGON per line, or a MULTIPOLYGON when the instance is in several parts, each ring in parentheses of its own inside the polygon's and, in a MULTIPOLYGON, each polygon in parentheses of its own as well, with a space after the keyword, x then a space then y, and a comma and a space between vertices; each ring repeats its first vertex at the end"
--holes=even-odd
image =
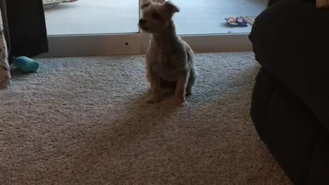
MULTIPOLYGON (((50 48, 45 56, 144 53, 149 34, 137 23, 145 1, 43 0, 50 48)), ((251 49, 252 19, 266 7, 264 0, 171 1, 180 8, 177 32, 196 52, 251 49)))

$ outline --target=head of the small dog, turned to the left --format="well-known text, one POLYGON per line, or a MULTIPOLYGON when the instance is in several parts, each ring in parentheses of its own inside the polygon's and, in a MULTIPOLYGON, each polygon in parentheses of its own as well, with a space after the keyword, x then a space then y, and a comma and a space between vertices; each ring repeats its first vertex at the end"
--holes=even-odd
POLYGON ((141 9, 143 15, 138 22, 138 27, 151 34, 156 34, 164 27, 167 27, 169 21, 173 18, 173 14, 180 12, 180 9, 170 1, 164 3, 147 1, 141 9))

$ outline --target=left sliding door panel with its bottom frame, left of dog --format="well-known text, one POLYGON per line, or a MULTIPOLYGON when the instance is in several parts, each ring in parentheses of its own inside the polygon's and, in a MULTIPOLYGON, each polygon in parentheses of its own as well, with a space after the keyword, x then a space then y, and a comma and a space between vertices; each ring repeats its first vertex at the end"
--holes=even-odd
POLYGON ((49 36, 42 57, 139 53, 139 0, 42 1, 49 36))

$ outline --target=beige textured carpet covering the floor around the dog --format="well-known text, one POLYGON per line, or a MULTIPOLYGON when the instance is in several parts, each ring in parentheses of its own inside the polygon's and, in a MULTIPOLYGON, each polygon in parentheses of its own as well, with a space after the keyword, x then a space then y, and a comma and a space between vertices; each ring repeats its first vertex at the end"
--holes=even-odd
POLYGON ((289 184, 249 118, 253 54, 195 58, 186 108, 144 103, 142 56, 14 73, 0 90, 0 184, 289 184))

